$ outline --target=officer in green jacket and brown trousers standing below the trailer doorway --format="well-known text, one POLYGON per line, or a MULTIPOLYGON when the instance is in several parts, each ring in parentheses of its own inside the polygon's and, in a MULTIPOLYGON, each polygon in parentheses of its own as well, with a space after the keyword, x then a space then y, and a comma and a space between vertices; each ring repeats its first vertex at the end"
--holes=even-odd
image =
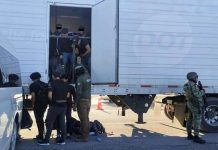
POLYGON ((89 136, 89 112, 91 107, 91 79, 88 71, 81 65, 75 68, 76 73, 76 106, 81 121, 82 135, 76 142, 87 142, 89 136))

